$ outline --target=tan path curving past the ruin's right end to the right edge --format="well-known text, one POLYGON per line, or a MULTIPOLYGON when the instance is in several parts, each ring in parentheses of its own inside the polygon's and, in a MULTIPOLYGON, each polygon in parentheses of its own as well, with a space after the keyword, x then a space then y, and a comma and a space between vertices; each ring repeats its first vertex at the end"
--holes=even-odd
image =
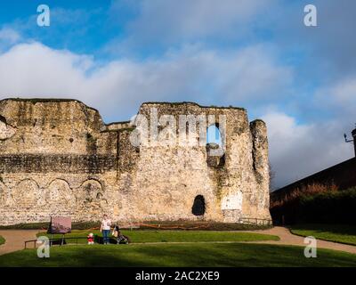
MULTIPOLYGON (((275 226, 268 230, 258 230, 258 231, 248 231, 248 232, 259 232, 265 234, 273 234, 279 236, 280 240, 262 240, 262 241, 247 241, 251 243, 265 243, 265 244, 279 244, 279 245, 293 245, 293 246, 302 246, 305 247, 304 237, 297 236, 287 228, 281 226, 275 226)), ((346 245, 342 243, 326 241, 326 240, 317 240, 317 248, 328 248, 334 250, 346 251, 349 253, 356 254, 356 246, 346 245)))

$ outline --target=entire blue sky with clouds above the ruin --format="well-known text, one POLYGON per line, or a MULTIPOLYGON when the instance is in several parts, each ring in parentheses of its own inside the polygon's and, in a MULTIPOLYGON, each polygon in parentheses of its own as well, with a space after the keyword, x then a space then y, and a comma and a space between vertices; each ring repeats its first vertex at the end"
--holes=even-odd
POLYGON ((278 188, 353 156, 355 27, 353 0, 6 1, 0 99, 76 98, 107 123, 146 101, 245 107, 268 124, 278 188))

